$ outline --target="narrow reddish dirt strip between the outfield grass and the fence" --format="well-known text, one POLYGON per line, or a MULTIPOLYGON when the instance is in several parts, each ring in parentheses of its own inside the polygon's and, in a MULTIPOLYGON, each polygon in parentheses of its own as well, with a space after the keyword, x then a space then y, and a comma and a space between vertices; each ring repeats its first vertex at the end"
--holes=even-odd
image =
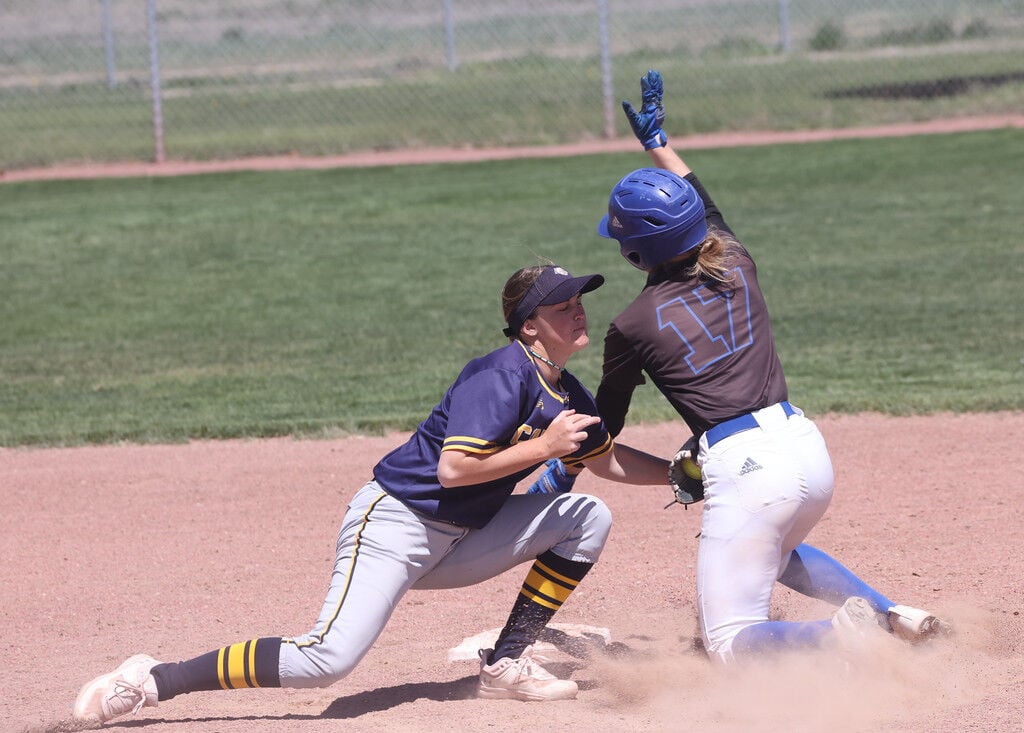
MULTIPOLYGON (((1024 128, 1024 115, 957 117, 892 125, 815 130, 723 131, 674 136, 672 143, 674 147, 680 150, 694 150, 717 147, 796 144, 840 139, 868 139, 976 132, 1002 128, 1024 128)), ((416 149, 364 150, 340 156, 263 156, 223 161, 168 160, 163 163, 141 161, 78 163, 66 166, 0 171, 0 183, 31 180, 198 175, 234 171, 318 170, 440 163, 477 163, 481 161, 513 160, 518 158, 565 158, 604 153, 629 153, 637 149, 636 139, 632 136, 626 136, 607 140, 584 140, 575 143, 545 146, 486 148, 425 147, 416 149)))

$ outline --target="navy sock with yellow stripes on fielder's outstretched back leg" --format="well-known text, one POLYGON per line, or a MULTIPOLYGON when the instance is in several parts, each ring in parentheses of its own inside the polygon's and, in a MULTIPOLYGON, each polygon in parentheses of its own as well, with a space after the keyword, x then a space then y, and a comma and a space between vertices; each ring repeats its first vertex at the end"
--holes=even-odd
POLYGON ((250 639, 197 656, 187 661, 157 664, 158 699, 200 690, 236 690, 243 687, 281 687, 278 662, 281 637, 250 639))

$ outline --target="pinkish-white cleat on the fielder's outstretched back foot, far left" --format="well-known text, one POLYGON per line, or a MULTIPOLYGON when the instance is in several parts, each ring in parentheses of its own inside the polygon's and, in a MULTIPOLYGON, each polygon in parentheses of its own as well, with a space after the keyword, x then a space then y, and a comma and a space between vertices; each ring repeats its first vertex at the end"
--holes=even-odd
POLYGON ((75 700, 75 720, 96 725, 138 713, 143 706, 155 707, 157 682, 150 670, 159 663, 152 656, 136 654, 114 672, 87 682, 75 700))

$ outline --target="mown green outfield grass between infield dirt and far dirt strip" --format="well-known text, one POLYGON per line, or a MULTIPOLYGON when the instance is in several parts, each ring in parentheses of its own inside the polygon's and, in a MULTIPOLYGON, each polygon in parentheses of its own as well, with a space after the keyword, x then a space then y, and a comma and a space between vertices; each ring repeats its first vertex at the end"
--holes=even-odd
MULTIPOLYGON (((1024 408, 1024 133, 699 150, 811 414, 1024 408), (1013 152, 1017 150, 1017 154, 1013 152)), ((642 275, 594 232, 642 154, 0 186, 0 444, 408 429, 504 343, 538 258, 642 275)), ((633 421, 671 419, 652 387, 633 421)))

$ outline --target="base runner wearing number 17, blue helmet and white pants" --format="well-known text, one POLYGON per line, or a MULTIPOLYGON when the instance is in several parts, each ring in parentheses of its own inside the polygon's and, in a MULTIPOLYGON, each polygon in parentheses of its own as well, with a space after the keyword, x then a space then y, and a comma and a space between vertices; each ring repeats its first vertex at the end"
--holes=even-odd
POLYGON ((802 544, 831 500, 828 450, 787 401, 754 260, 668 145, 660 75, 648 72, 641 87, 642 109, 623 107, 656 168, 615 184, 598 232, 616 240, 647 282, 608 329, 597 404, 617 435, 646 373, 699 437, 697 611, 706 649, 731 660, 817 644, 835 628, 911 641, 948 631, 802 544), (829 620, 769 621, 776 580, 841 607, 829 620))

